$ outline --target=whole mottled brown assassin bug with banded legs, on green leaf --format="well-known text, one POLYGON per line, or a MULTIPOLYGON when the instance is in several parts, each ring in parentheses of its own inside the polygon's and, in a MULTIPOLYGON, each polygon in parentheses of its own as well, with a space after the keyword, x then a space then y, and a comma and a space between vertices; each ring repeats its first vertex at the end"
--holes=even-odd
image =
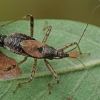
MULTIPOLYGON (((80 50, 79 43, 84 35, 84 32, 85 32, 88 24, 87 24, 87 26, 86 26, 78 43, 72 42, 68 45, 64 45, 58 49, 55 49, 52 46, 49 46, 46 44, 47 38, 51 32, 52 27, 49 26, 46 28, 47 32, 45 34, 45 37, 43 38, 42 42, 39 42, 36 39, 32 38, 33 33, 34 33, 34 17, 33 17, 33 15, 28 14, 22 18, 19 18, 19 19, 23 19, 23 18, 27 18, 27 17, 30 18, 30 31, 31 31, 30 36, 27 36, 27 35, 22 34, 22 33, 14 33, 14 34, 10 34, 8 36, 0 34, 0 46, 6 48, 6 49, 8 49, 16 54, 25 56, 22 61, 18 62, 18 65, 25 62, 27 60, 27 57, 34 58, 34 65, 33 65, 32 73, 31 73, 31 77, 30 77, 29 81, 18 83, 14 92, 19 88, 20 85, 29 83, 33 80, 35 72, 36 72, 37 59, 44 59, 44 62, 46 64, 47 68, 49 69, 49 71, 51 72, 51 74, 54 76, 54 78, 56 80, 55 83, 48 83, 47 84, 48 91, 50 93, 50 87, 59 83, 59 77, 47 59, 53 60, 53 59, 62 59, 62 58, 66 58, 66 57, 77 58, 77 56, 73 56, 73 55, 70 55, 68 53, 68 52, 74 50, 76 47, 78 47, 79 54, 81 55, 82 52, 80 50), (69 50, 68 52, 64 52, 65 49, 67 49, 73 45, 76 45, 76 46, 73 49, 69 50)), ((17 20, 19 20, 19 19, 17 19, 17 20)), ((17 20, 3 24, 0 27, 6 26, 10 23, 17 21, 17 20)), ((11 67, 5 69, 5 71, 9 71, 15 67, 16 66, 11 66, 11 67)))

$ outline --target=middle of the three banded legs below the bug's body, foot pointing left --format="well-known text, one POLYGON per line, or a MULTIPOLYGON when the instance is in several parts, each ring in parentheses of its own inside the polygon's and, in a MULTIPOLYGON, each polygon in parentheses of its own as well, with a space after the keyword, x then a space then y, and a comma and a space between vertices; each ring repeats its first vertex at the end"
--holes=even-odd
POLYGON ((16 92, 16 90, 20 87, 20 85, 29 83, 34 79, 34 75, 35 75, 35 72, 36 72, 36 65, 37 65, 37 59, 34 59, 34 65, 33 65, 33 69, 32 69, 32 74, 31 74, 31 77, 30 77, 29 81, 18 83, 16 88, 14 89, 13 93, 16 92))

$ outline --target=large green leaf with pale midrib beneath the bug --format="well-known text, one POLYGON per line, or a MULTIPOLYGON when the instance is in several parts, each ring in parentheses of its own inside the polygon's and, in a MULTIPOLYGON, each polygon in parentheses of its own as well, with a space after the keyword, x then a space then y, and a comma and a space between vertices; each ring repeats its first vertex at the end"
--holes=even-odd
MULTIPOLYGON (((42 31, 45 21, 52 26, 51 34, 47 44, 58 48, 71 42, 78 42, 86 24, 69 20, 35 20, 34 38, 42 41, 46 31, 42 31)), ((3 24, 3 23, 1 23, 3 24)), ((3 28, 0 34, 23 33, 30 35, 29 21, 17 21, 3 28)), ((2 100, 100 100, 100 29, 89 25, 81 42, 80 48, 83 54, 77 59, 65 58, 61 60, 49 60, 55 71, 58 73, 60 83, 51 88, 48 94, 46 84, 54 82, 51 73, 46 68, 44 61, 38 60, 37 72, 29 84, 22 85, 15 94, 13 90, 18 82, 27 81, 31 74, 33 58, 20 65, 22 76, 11 79, 0 79, 0 98, 2 100), (83 70, 82 70, 83 69, 83 70), (43 76, 43 77, 41 77, 43 76)), ((0 48, 5 55, 20 61, 23 56, 11 53, 0 48)))

